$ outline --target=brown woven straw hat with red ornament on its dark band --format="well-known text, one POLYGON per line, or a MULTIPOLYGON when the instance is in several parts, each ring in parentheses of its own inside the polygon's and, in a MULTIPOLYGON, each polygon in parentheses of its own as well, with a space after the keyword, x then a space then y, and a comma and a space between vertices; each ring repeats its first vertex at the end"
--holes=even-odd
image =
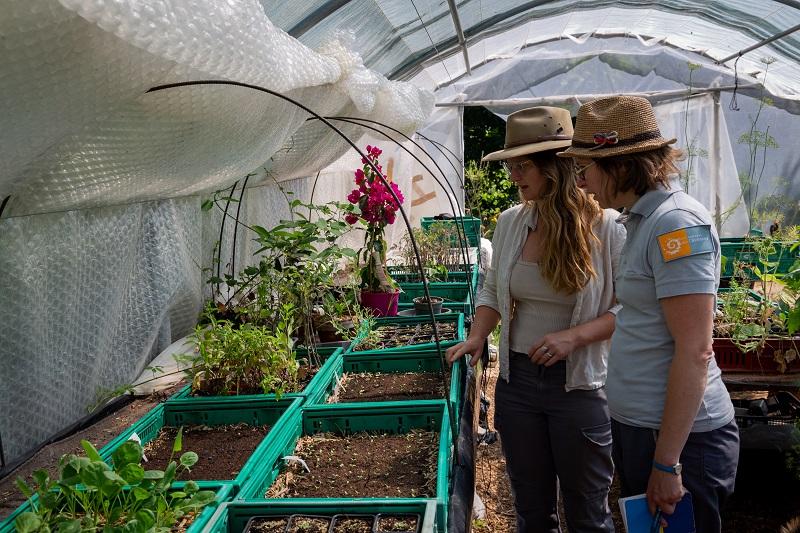
POLYGON ((599 159, 656 150, 677 139, 665 139, 653 107, 638 96, 612 96, 578 109, 572 146, 561 157, 599 159))

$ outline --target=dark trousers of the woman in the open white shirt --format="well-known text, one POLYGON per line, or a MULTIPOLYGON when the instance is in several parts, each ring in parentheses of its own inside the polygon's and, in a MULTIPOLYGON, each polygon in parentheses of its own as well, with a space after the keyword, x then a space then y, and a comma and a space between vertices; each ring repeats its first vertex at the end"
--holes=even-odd
POLYGON ((566 392, 566 363, 531 363, 511 352, 497 381, 495 427, 511 478, 519 533, 561 531, 558 488, 570 533, 614 531, 608 506, 611 422, 605 391, 566 392))

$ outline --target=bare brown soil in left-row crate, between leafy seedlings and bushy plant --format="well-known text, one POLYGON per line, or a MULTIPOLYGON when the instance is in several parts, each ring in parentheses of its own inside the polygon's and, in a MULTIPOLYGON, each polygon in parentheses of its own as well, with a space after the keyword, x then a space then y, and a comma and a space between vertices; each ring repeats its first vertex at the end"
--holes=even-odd
POLYGON ((172 445, 178 428, 165 427, 158 437, 150 441, 144 449, 148 459, 148 470, 165 470, 170 456, 177 461, 187 451, 195 452, 200 458, 191 472, 184 471, 179 480, 224 480, 233 479, 247 462, 253 451, 269 433, 269 426, 185 426, 183 428, 183 449, 172 453, 172 445))

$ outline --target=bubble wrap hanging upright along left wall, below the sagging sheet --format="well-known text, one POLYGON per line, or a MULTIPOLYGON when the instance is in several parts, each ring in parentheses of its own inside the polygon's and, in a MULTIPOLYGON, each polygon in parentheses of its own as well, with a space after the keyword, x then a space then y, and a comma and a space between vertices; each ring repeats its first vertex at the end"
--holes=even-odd
POLYGON ((133 379, 201 305, 196 198, 0 220, 6 461, 133 379))

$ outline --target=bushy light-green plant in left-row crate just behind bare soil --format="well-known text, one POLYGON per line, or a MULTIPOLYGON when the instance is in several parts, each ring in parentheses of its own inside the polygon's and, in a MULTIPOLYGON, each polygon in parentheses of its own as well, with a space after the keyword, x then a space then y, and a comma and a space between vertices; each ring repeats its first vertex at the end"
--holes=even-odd
POLYGON ((298 388, 300 364, 295 358, 292 333, 295 309, 279 306, 272 327, 242 324, 208 317, 208 326, 197 326, 197 354, 176 356, 190 366, 192 392, 203 395, 275 394, 298 388))

